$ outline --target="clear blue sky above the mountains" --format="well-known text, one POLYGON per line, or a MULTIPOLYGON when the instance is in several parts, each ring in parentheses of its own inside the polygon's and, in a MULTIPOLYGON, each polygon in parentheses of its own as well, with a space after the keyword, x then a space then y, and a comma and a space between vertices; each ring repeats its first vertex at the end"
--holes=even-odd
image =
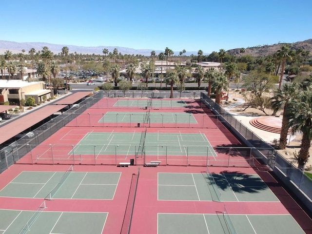
POLYGON ((198 51, 312 38, 311 0, 5 0, 1 40, 198 51))

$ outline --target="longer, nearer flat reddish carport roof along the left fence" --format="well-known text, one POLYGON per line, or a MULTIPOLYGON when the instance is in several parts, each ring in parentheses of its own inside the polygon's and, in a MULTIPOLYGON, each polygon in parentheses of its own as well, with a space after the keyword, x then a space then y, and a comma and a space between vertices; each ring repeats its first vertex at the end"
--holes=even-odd
POLYGON ((12 122, 4 126, 1 126, 0 130, 2 133, 5 134, 0 134, 0 144, 9 140, 12 137, 15 137, 19 133, 25 131, 36 123, 39 123, 46 117, 53 115, 64 107, 66 107, 66 105, 47 105, 37 111, 31 112, 28 115, 25 115, 19 119, 13 120, 12 122))

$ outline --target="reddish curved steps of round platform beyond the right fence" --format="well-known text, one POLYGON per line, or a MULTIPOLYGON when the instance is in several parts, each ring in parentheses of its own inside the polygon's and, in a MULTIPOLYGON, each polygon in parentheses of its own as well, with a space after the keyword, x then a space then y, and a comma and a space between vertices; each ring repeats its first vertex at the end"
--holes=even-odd
MULTIPOLYGON (((253 118, 249 123, 263 131, 271 133, 281 133, 282 120, 279 117, 258 117, 253 118)), ((292 134, 292 130, 288 130, 288 134, 292 134)))

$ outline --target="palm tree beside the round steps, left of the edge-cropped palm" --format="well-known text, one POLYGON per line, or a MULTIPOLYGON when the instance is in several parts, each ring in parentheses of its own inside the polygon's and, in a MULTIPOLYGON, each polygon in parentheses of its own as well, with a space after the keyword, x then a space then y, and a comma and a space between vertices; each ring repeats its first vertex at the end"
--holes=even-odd
MULTIPOLYGON (((290 84, 283 84, 283 89, 276 89, 274 91, 274 96, 271 98, 272 100, 272 108, 274 110, 279 110, 283 108, 283 118, 282 118, 282 127, 281 134, 279 137, 279 148, 281 150, 286 148, 287 144, 287 135, 289 130, 289 119, 287 117, 287 106, 288 103, 297 96, 298 85, 295 82, 290 84)), ((276 112, 275 111, 275 112, 276 112)))

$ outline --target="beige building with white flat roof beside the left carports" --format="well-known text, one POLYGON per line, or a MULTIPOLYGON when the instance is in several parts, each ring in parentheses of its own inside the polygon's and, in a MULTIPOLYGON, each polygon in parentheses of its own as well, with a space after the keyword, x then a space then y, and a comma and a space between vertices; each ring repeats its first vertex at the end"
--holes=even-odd
POLYGON ((0 102, 20 105, 20 99, 35 98, 36 104, 51 98, 51 90, 45 89, 42 81, 0 80, 0 102))

